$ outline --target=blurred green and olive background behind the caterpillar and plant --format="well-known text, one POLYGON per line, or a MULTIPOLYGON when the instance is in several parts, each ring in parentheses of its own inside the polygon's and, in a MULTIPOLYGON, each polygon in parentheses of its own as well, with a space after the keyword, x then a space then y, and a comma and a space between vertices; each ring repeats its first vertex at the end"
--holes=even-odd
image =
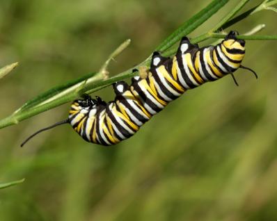
MULTIPOLYGON (((0 81, 0 117, 97 71, 127 38, 132 44, 111 75, 140 63, 207 3, 0 1, 0 67, 20 62, 0 81)), ((276 16, 263 11, 230 29, 266 24, 262 33, 276 34, 276 16)), ((0 190, 0 220, 277 220, 276 51, 277 42, 247 41, 244 65, 258 81, 239 70, 239 87, 228 76, 191 90, 114 147, 85 142, 63 125, 19 148, 30 133, 65 119, 69 104, 1 129, 0 182, 26 181, 0 190)), ((111 87, 95 95, 114 97, 111 87)))

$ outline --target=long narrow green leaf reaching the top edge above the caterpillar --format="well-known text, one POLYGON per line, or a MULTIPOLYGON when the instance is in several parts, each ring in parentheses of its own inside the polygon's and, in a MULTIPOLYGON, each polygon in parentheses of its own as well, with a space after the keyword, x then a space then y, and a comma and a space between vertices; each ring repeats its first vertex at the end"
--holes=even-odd
POLYGON ((175 44, 178 40, 180 40, 184 35, 188 35, 193 30, 195 30, 198 26, 203 24, 207 19, 212 17, 220 8, 222 8, 225 3, 228 3, 229 0, 215 0, 212 3, 200 10, 199 13, 193 15, 187 22, 184 22, 182 26, 177 28, 171 35, 169 35, 164 42, 161 42, 159 47, 156 48, 157 51, 166 51, 169 49, 173 44, 175 44))

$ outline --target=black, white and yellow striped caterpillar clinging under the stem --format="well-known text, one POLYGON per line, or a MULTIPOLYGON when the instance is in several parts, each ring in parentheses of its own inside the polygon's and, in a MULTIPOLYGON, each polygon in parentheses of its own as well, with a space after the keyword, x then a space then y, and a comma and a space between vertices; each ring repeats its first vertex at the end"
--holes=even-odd
POLYGON ((232 75, 239 68, 250 70, 258 78, 252 69, 242 66, 245 41, 236 35, 237 31, 230 31, 220 44, 202 48, 183 37, 173 58, 155 51, 145 77, 134 76, 131 85, 125 81, 113 83, 113 101, 106 103, 100 97, 84 95, 73 101, 68 119, 33 133, 21 146, 38 133, 61 124, 71 124, 88 142, 115 145, 133 136, 153 115, 189 89, 232 75))

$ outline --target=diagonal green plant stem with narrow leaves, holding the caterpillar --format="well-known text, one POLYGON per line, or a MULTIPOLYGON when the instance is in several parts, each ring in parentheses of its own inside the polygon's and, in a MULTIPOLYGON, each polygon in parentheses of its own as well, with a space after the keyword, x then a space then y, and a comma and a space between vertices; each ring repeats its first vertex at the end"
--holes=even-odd
MULTIPOLYGON (((219 22, 219 24, 216 24, 216 26, 214 26, 214 28, 212 28, 207 33, 200 35, 196 38, 193 38, 191 42, 193 44, 196 44, 198 42, 202 42, 203 40, 207 40, 209 38, 224 38, 225 35, 217 34, 214 32, 217 31, 219 28, 225 26, 225 24, 231 25, 232 22, 230 23, 228 21, 232 21, 230 19, 239 10, 241 10, 248 1, 249 0, 240 1, 239 4, 232 11, 230 11, 230 13, 228 13, 228 15, 226 15, 223 19, 221 19, 221 22, 219 22)), ((178 40, 180 40, 180 38, 182 38, 182 36, 188 35, 189 33, 191 33, 191 31, 193 31, 198 26, 200 26, 200 24, 203 24, 203 22, 205 22, 206 19, 208 19, 214 13, 216 13, 216 11, 219 10, 221 7, 223 7, 227 2, 228 0, 212 1, 212 3, 210 3, 209 6, 201 10, 200 13, 193 16, 191 19, 189 19, 189 21, 185 22, 173 34, 171 34, 168 38, 166 38, 166 40, 162 42, 159 45, 159 47, 157 47, 157 49, 161 51, 165 51, 164 56, 172 56, 173 54, 175 54, 175 49, 171 49, 167 51, 166 49, 169 49, 170 47, 172 47, 173 44, 175 44, 175 42, 177 42, 178 40)), ((256 10, 257 8, 258 6, 254 10, 256 10)), ((253 12, 253 10, 251 12, 253 12)), ((244 15, 244 18, 245 17, 246 16, 244 15)), ((242 18, 239 18, 239 19, 242 19, 242 18)), ((271 35, 271 36, 270 35, 251 35, 251 36, 238 35, 237 38, 248 39, 248 40, 276 40, 277 39, 276 35, 271 35)), ((142 63, 140 63, 139 65, 136 65, 136 67, 132 67, 131 69, 128 69, 127 71, 122 72, 116 76, 113 76, 110 79, 102 79, 102 74, 100 74, 101 72, 98 72, 97 74, 93 74, 93 76, 88 79, 77 81, 76 84, 72 85, 69 88, 65 88, 65 90, 59 91, 56 94, 55 93, 51 94, 51 92, 45 93, 49 96, 50 95, 53 95, 53 96, 48 97, 49 99, 47 98, 47 100, 34 99, 35 101, 27 105, 26 109, 19 108, 19 110, 15 112, 13 115, 10 115, 9 117, 6 117, 5 119, 0 121, 0 128, 9 126, 12 124, 17 124, 19 121, 25 120, 33 115, 37 115, 38 113, 42 113, 44 111, 47 111, 61 104, 65 104, 68 101, 72 101, 73 99, 75 99, 76 97, 84 93, 90 94, 92 92, 95 92, 97 90, 100 90, 102 88, 105 88, 111 85, 111 83, 115 83, 116 81, 122 81, 132 76, 135 76, 137 73, 133 73, 132 69, 138 68, 140 66, 149 67, 150 60, 151 58, 148 57, 142 63)))

